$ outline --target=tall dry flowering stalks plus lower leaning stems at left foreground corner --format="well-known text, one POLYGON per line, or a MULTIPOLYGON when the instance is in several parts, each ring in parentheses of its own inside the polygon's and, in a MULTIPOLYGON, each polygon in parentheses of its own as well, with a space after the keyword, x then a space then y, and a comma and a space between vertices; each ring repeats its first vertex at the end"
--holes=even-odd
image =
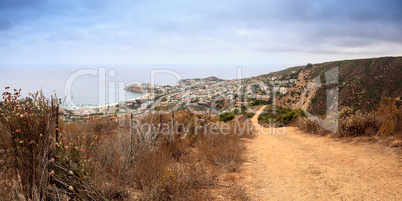
POLYGON ((29 95, 21 99, 21 90, 4 92, 0 110, 6 149, 12 153, 25 199, 103 200, 82 150, 58 136, 60 101, 54 96, 47 99, 42 92, 29 95))

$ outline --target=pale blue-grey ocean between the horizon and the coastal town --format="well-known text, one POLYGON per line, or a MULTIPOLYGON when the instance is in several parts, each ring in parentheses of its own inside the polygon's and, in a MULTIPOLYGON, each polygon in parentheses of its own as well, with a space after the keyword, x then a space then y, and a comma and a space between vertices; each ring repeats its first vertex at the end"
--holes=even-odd
MULTIPOLYGON (((22 95, 42 90, 56 94, 65 107, 89 107, 138 98, 124 91, 132 83, 176 85, 180 79, 216 76, 221 79, 251 77, 276 71, 266 65, 5 65, 0 64, 0 92, 9 86, 22 95)), ((2 99, 2 98, 0 98, 2 99)))

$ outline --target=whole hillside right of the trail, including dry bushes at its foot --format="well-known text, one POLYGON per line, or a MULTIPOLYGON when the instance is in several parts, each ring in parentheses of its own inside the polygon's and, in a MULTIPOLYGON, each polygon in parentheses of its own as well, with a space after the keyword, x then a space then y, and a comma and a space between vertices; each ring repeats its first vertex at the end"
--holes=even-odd
MULTIPOLYGON (((340 136, 388 136, 387 143, 390 146, 400 146, 401 77, 402 57, 382 57, 308 64, 252 79, 265 83, 276 79, 275 83, 269 82, 271 90, 286 88, 285 92, 275 91, 277 106, 302 108, 315 116, 324 117, 322 119, 329 118, 329 121, 325 122, 328 125, 332 123, 331 118, 336 118, 334 120, 339 122, 337 133, 340 136), (332 75, 328 73, 336 68, 337 73, 332 75), (297 82, 288 83, 287 80, 294 78, 295 75, 297 82), (338 80, 327 84, 326 81, 334 81, 335 75, 338 80), (336 92, 330 89, 338 89, 339 116, 337 117, 326 116, 327 93, 336 92)), ((336 96, 334 100, 336 101, 336 96)), ((285 111, 286 115, 280 117, 286 119, 293 117, 296 111, 288 109, 285 111)), ((283 118, 272 117, 269 113, 265 116, 267 119, 274 118, 282 123, 285 122, 283 118)), ((309 118, 299 119, 297 125, 307 132, 321 134, 327 132, 309 118)))

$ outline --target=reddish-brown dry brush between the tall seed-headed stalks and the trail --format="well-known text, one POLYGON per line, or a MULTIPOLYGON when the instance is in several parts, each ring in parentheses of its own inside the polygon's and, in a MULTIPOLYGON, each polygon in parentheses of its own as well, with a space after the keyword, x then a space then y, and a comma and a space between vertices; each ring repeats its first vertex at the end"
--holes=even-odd
MULTIPOLYGON (((211 198, 209 189, 214 184, 206 171, 209 167, 205 167, 205 155, 198 150, 203 144, 209 144, 204 141, 210 134, 204 135, 201 130, 197 133, 196 129, 214 123, 213 118, 188 111, 178 112, 174 116, 175 130, 167 126, 172 125, 172 118, 171 114, 134 117, 131 134, 129 118, 106 134, 86 134, 93 132, 93 122, 64 124, 63 131, 69 141, 75 141, 87 150, 95 166, 94 179, 108 199, 125 200, 130 197, 128 191, 141 191, 137 197, 143 200, 208 200, 211 198)), ((235 125, 230 125, 229 130, 233 132, 234 129, 235 125)), ((250 133, 241 136, 251 137, 250 133)), ((244 150, 240 135, 225 138, 230 140, 220 145, 244 150)), ((208 152, 210 155, 221 153, 218 149, 208 152)), ((237 169, 241 160, 235 161, 232 167, 222 168, 237 169)))

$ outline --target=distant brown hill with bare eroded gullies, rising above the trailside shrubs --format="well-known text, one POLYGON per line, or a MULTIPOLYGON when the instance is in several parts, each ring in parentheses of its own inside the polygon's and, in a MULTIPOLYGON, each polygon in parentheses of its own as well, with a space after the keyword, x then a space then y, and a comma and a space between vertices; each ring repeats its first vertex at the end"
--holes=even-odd
MULTIPOLYGON (((372 111, 384 96, 402 96, 402 57, 381 57, 356 60, 343 60, 292 67, 282 71, 260 75, 256 79, 272 76, 278 79, 297 75, 295 86, 289 87, 286 94, 279 97, 278 104, 299 108, 306 105, 313 114, 325 114, 327 89, 338 89, 339 105, 349 106, 364 111, 372 111), (325 72, 338 67, 338 83, 317 90, 311 90, 302 96, 308 82, 319 76, 325 83, 325 72), (303 102, 302 102, 303 99, 303 102)), ((305 108, 306 109, 306 108, 305 108)))

